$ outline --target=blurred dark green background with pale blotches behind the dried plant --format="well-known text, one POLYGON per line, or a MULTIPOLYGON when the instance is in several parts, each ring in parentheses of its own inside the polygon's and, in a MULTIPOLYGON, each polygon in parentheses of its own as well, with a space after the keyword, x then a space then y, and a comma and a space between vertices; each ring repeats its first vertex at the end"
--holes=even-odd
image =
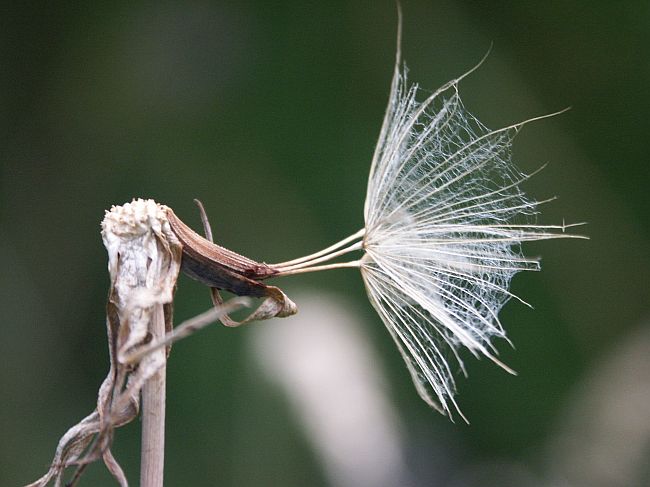
MULTIPOLYGON (((461 85, 488 126, 572 107, 527 126, 514 157, 524 171, 549 162, 526 183, 559 196, 542 220, 586 221, 591 240, 527 247, 543 272, 513 288, 536 309, 511 302, 501 315, 516 346, 500 344, 502 358, 519 376, 468 358, 458 401, 471 425, 418 398, 357 272, 279 281, 297 317, 214 326, 174 348, 166 485, 650 485, 650 4, 403 10, 404 58, 427 89, 493 43, 461 85)), ((396 12, 392 1, 11 2, 0 25, 10 486, 45 472, 108 369, 105 209, 151 197, 199 228, 198 197, 221 244, 267 262, 361 227, 396 12)), ((182 278, 176 321, 208 306, 182 278)), ((139 421, 114 453, 137 485, 139 421)), ((81 485, 115 484, 97 464, 81 485)))

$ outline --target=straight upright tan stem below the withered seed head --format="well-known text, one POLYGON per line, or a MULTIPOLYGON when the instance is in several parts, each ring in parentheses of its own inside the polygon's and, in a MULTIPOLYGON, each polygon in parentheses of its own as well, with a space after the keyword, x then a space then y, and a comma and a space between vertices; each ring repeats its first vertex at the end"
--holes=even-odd
MULTIPOLYGON (((153 340, 165 336, 165 316, 157 305, 151 320, 153 340)), ((153 353, 166 356, 164 349, 153 353)), ((142 388, 142 447, 140 456, 141 487, 162 487, 165 466, 165 390, 167 359, 142 388)))

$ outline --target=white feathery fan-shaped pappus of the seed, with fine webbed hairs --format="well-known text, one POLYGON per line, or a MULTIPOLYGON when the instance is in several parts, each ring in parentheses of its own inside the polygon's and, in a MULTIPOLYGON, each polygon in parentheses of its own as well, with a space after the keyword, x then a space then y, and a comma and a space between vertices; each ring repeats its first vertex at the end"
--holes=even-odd
POLYGON ((453 375, 464 372, 462 347, 503 366, 491 339, 505 338, 498 313, 513 297, 510 280, 539 269, 521 242, 570 237, 554 233, 565 225, 536 225, 538 203, 519 188, 530 176, 512 164, 511 143, 531 120, 485 127, 459 97, 467 74, 417 101, 418 87, 400 67, 398 35, 364 210, 361 272, 370 300, 420 396, 443 414, 450 404, 458 410, 453 375))

